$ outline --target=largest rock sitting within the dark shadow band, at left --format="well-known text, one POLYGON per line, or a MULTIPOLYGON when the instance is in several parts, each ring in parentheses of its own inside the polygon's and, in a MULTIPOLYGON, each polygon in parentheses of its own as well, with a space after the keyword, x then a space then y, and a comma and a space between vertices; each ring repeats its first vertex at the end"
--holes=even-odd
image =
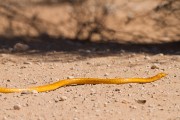
POLYGON ((13 47, 14 51, 22 52, 29 49, 29 46, 23 43, 16 43, 13 47))

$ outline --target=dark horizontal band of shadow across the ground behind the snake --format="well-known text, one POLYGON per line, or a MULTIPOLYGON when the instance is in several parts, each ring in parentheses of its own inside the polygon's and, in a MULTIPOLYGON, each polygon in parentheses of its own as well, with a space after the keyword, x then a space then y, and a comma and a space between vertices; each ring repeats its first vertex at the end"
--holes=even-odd
POLYGON ((84 57, 109 56, 119 53, 147 53, 180 55, 179 42, 147 43, 118 43, 118 42, 90 42, 88 40, 75 40, 69 38, 55 38, 42 34, 39 37, 0 37, 0 52, 17 53, 13 50, 16 43, 27 44, 30 49, 25 54, 40 54, 50 51, 78 54, 84 57), (33 52, 32 52, 33 51, 33 52))

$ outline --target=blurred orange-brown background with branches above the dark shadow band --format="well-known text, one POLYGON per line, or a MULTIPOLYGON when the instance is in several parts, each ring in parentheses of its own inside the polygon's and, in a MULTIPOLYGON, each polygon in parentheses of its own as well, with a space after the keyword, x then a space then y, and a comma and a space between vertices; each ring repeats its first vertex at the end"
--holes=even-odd
MULTIPOLYGON (((179 0, 6 0, 0 36, 158 43, 180 40, 179 0)), ((39 39, 40 38, 40 39, 39 39)))

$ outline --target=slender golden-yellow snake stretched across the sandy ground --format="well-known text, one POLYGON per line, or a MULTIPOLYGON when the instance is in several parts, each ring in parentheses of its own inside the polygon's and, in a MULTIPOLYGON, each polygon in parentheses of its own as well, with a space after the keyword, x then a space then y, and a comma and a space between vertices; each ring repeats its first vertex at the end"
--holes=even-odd
POLYGON ((44 86, 37 86, 37 87, 30 87, 30 88, 3 88, 0 87, 1 93, 14 93, 14 92, 46 92, 55 90, 62 86, 73 85, 73 84, 125 84, 125 83, 149 83, 160 78, 166 76, 165 73, 159 73, 153 77, 149 78, 72 78, 72 79, 64 79, 59 80, 58 82, 44 85, 44 86))

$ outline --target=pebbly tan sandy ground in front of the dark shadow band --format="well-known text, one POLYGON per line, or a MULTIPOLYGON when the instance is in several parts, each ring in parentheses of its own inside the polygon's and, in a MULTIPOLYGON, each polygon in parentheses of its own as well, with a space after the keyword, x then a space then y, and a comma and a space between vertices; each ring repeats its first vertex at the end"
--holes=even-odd
MULTIPOLYGON (((106 53, 106 51, 104 52, 106 53)), ((79 85, 34 94, 0 94, 2 120, 179 120, 180 56, 130 53, 86 57, 63 52, 0 54, 1 87, 44 85, 67 77, 168 76, 147 84, 79 85), (155 67, 154 67, 155 66, 155 67)))

